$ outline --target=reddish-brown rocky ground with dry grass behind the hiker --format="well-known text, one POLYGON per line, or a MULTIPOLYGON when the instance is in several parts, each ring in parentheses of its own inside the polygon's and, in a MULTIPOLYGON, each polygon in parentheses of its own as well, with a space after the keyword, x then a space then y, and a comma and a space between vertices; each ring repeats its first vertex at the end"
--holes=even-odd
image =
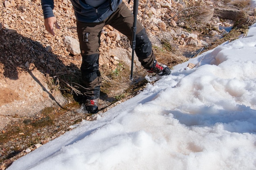
MULTIPOLYGON (((70 0, 54 1, 54 13, 61 26, 55 29, 55 36, 44 28, 40 0, 0 2, 0 169, 5 169, 19 157, 72 129, 72 125, 81 120, 93 121, 97 116, 83 110, 79 91, 83 88, 79 85, 81 55, 75 52, 77 46, 70 48, 65 41, 69 36, 76 41, 73 45, 77 43, 70 0)), ((225 36, 224 41, 243 34, 248 24, 243 18, 255 20, 252 14, 243 13, 242 19, 236 18, 239 29, 227 34, 219 26, 232 27, 234 22, 214 17, 213 10, 225 7, 223 1, 139 2, 138 19, 147 30, 157 59, 169 67, 184 62, 184 55, 193 56, 202 47, 213 48, 212 41, 220 36, 225 36), (182 52, 188 49, 189 54, 182 52)), ((132 10, 132 2, 128 7, 132 10)), ((235 13, 241 15, 240 11, 235 13)), ((215 45, 222 41, 217 40, 215 45)), ((129 80, 130 42, 111 26, 103 28, 100 53, 103 85, 99 114, 103 114, 136 95, 148 82, 137 59, 134 81, 129 80)))

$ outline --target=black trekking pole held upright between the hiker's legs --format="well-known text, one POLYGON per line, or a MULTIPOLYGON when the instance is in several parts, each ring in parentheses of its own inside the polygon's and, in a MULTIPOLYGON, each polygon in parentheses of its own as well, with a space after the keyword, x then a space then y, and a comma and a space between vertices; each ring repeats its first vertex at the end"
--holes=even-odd
MULTIPOLYGON (((128 1, 128 4, 130 0, 128 1)), ((133 60, 134 60, 134 50, 136 45, 136 29, 137 29, 137 14, 139 8, 139 0, 133 0, 133 25, 132 25, 132 64, 131 64, 131 75, 130 80, 133 81, 132 72, 133 72, 133 60)))

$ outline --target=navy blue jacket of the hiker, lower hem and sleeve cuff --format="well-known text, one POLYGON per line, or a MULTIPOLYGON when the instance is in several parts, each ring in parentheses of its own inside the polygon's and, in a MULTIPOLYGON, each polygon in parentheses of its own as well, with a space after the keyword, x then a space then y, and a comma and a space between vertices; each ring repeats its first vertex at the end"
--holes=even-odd
MULTIPOLYGON (((84 0, 71 0, 71 2, 76 20, 81 22, 101 22, 117 9, 122 0, 106 0, 105 3, 97 8, 85 4, 84 0)), ((44 18, 53 17, 54 0, 41 0, 41 4, 44 18)))

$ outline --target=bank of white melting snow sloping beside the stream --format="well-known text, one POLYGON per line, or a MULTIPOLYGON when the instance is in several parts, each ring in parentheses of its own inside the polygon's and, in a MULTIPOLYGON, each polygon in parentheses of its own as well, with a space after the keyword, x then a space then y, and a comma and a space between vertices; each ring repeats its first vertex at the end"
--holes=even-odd
POLYGON ((256 24, 8 170, 256 170, 256 24))

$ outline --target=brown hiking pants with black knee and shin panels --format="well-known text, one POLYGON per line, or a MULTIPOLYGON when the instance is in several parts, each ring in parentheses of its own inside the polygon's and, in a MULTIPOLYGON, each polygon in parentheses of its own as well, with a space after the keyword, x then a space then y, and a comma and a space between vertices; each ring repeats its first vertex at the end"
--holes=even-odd
MULTIPOLYGON (((83 94, 86 98, 99 98, 101 76, 99 72, 99 45, 101 30, 105 25, 111 25, 128 39, 132 40, 133 14, 122 2, 117 10, 102 22, 77 21, 77 34, 80 42, 82 81, 86 88, 83 94)), ((150 68, 155 60, 152 45, 144 27, 137 21, 135 53, 141 65, 150 68)))

